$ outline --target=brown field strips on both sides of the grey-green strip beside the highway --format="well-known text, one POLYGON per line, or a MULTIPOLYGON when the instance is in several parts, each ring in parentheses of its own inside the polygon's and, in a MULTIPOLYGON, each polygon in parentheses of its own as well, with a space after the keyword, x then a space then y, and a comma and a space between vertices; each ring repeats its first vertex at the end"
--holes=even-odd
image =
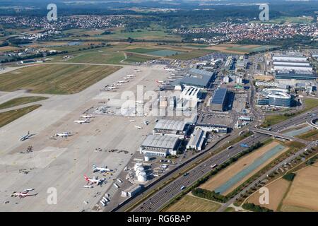
MULTIPOLYGON (((254 150, 254 152, 250 153, 249 155, 242 157, 240 160, 235 162, 235 164, 230 165, 229 167, 223 169, 220 171, 218 174, 216 174, 215 177, 212 177, 209 179, 206 183, 202 184, 200 187, 202 189, 207 189, 210 191, 214 191, 217 189, 219 186, 225 184, 225 182, 228 182, 229 179, 234 177, 238 172, 242 171, 242 169, 247 168, 249 165, 252 164, 255 160, 257 160, 261 155, 264 155, 267 151, 271 150, 272 148, 276 147, 276 145, 280 145, 277 141, 273 141, 269 143, 268 145, 265 145, 264 147, 259 148, 258 150, 254 150)), ((274 160, 276 157, 281 155, 281 153, 285 152, 288 150, 288 148, 285 148, 281 152, 279 152, 276 155, 273 155, 269 160, 261 164, 259 167, 254 169, 252 172, 247 174, 243 179, 240 180, 240 182, 237 182, 234 186, 232 186, 230 189, 225 191, 223 195, 229 194, 230 191, 235 189, 237 186, 245 182, 249 177, 252 177, 256 172, 258 172, 261 168, 265 167, 266 165, 269 164, 272 160, 274 160)))

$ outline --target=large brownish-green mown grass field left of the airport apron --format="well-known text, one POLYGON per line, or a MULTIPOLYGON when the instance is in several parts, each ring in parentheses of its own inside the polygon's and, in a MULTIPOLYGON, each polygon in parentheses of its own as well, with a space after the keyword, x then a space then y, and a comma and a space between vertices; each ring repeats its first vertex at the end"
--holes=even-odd
POLYGON ((119 66, 42 64, 0 75, 0 90, 31 93, 72 94, 88 88, 119 70, 119 66))

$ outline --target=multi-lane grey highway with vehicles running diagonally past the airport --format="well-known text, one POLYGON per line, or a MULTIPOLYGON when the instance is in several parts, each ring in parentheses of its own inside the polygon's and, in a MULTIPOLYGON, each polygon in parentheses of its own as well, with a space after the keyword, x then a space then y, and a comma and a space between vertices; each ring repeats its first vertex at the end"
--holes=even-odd
MULTIPOLYGON (((318 113, 318 109, 312 110, 312 113, 318 113)), ((300 124, 302 122, 306 122, 310 117, 310 114, 304 113, 300 114, 296 117, 293 117, 291 119, 282 121, 279 124, 276 124, 272 126, 272 131, 281 131, 283 129, 286 129, 290 126, 294 126, 296 124, 300 124)), ((252 128, 249 128, 252 130, 252 128)), ((153 196, 149 197, 141 203, 139 206, 134 208, 134 212, 152 212, 152 211, 158 211, 163 206, 165 206, 169 201, 180 194, 182 192, 181 187, 182 186, 191 186, 194 184, 198 179, 204 176, 204 174, 211 171, 211 165, 220 165, 223 162, 228 161, 231 157, 234 157, 235 155, 241 153, 243 150, 246 150, 246 148, 241 148, 241 143, 246 143, 247 145, 252 145, 253 143, 257 143, 258 141, 264 141, 268 138, 265 134, 255 134, 253 137, 246 138, 245 140, 241 141, 240 143, 237 143, 236 145, 233 145, 233 148, 230 150, 223 150, 222 152, 218 153, 217 155, 214 155, 210 159, 206 160, 205 162, 202 162, 198 166, 194 167, 193 169, 189 170, 189 174, 187 176, 181 176, 177 179, 175 179, 174 182, 168 184, 163 189, 160 189, 157 193, 153 194, 153 196)))

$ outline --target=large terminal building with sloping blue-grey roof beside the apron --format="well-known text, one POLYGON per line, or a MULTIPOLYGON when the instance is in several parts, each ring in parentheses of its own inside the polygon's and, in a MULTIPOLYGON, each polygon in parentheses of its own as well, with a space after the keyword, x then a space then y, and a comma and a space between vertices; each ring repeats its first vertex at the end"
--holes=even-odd
POLYGON ((210 87, 214 76, 214 72, 190 69, 187 75, 179 80, 173 81, 171 84, 175 86, 190 85, 198 88, 208 88, 210 87))

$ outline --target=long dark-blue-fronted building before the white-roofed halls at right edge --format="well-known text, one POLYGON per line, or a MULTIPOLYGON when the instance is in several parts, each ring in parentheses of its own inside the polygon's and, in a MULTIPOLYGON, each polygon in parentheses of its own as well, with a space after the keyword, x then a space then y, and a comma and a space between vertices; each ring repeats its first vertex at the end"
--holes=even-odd
POLYGON ((278 70, 275 72, 275 78, 278 81, 314 81, 317 74, 312 71, 278 70))

